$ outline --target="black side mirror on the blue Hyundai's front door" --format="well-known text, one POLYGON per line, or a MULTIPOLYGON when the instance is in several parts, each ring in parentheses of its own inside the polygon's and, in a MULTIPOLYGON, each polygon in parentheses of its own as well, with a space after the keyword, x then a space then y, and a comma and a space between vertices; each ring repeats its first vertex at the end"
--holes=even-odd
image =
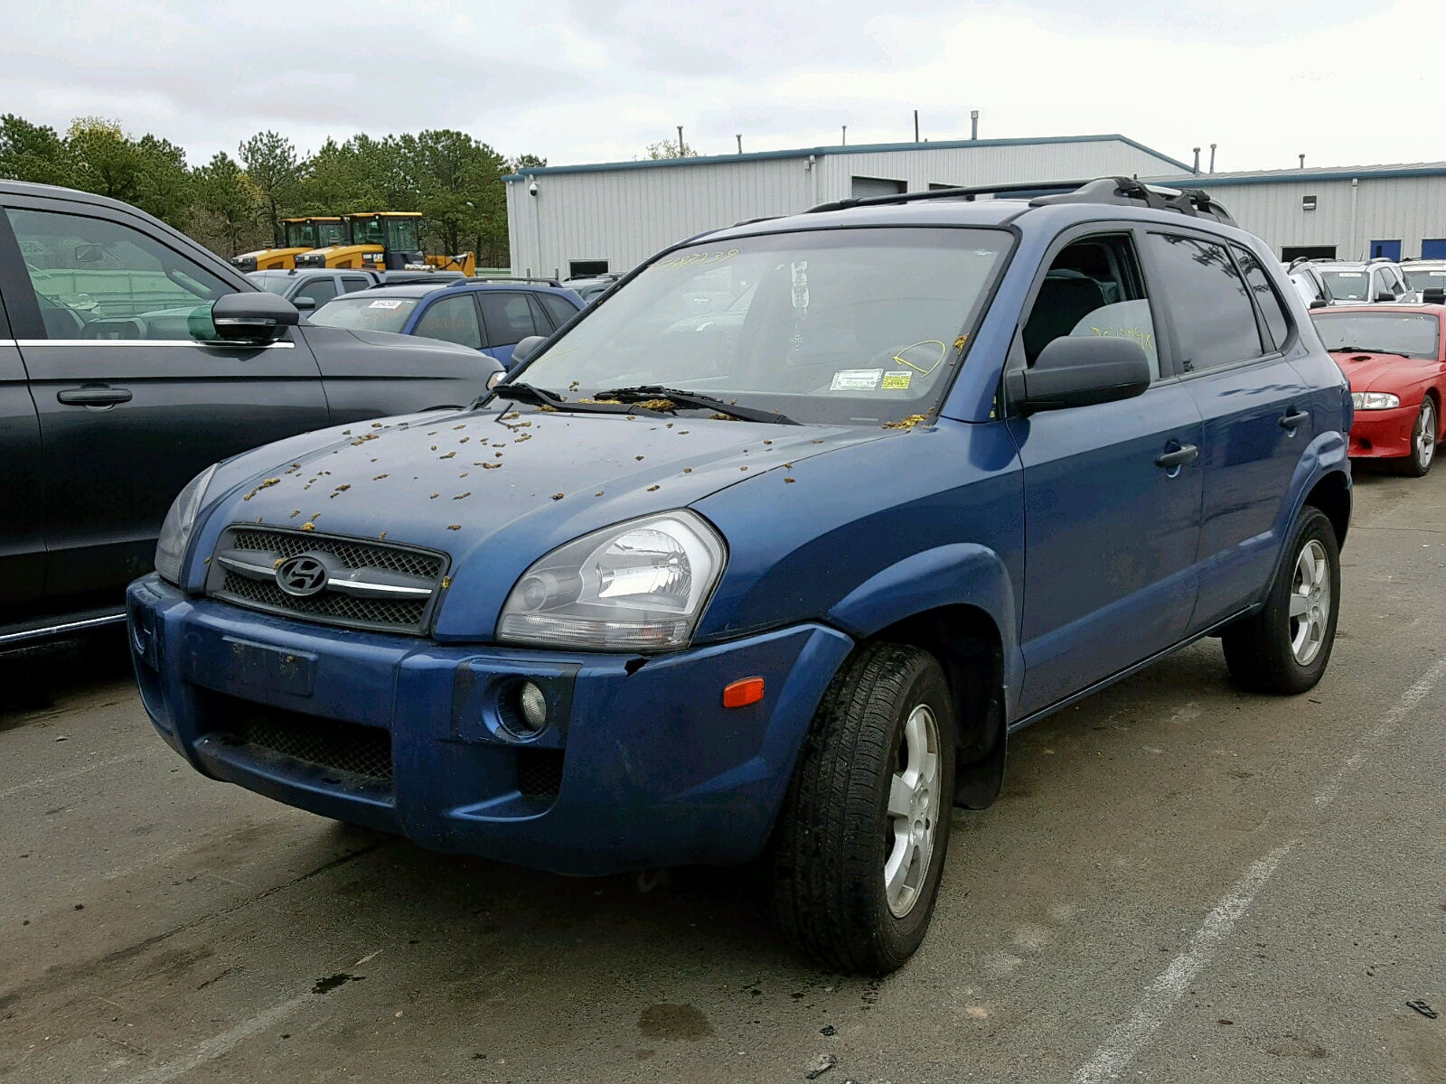
POLYGON ((1009 373, 1005 389, 1019 413, 1034 413, 1134 399, 1150 379, 1150 358, 1134 340, 1066 335, 1044 347, 1032 367, 1009 373))

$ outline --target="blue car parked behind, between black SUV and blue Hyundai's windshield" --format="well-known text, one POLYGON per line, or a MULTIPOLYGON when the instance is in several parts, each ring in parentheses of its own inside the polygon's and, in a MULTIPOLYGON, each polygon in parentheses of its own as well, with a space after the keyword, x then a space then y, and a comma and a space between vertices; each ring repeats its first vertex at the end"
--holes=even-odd
POLYGON ((450 279, 343 293, 311 314, 311 324, 440 338, 512 366, 523 338, 551 335, 584 306, 555 279, 450 279))

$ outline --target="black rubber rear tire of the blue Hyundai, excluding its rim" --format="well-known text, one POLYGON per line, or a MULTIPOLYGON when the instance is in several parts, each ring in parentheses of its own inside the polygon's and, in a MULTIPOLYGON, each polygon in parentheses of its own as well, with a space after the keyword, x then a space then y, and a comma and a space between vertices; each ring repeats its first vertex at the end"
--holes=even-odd
MULTIPOLYGON (((1229 626, 1220 636, 1231 678, 1249 692, 1297 694, 1314 688, 1330 662, 1339 611, 1340 551, 1336 545, 1336 530, 1320 509, 1307 504, 1300 510, 1296 528, 1291 530, 1285 558, 1275 572, 1264 608, 1229 626), (1300 621, 1290 616, 1290 607, 1293 594, 1310 604, 1309 591, 1301 593, 1300 568, 1301 554, 1307 546, 1314 546, 1314 552, 1325 556, 1323 582, 1329 585, 1330 594, 1320 607, 1323 635, 1319 648, 1313 658, 1301 662, 1293 648, 1300 621)), ((1306 620, 1309 621, 1309 614, 1306 620)))

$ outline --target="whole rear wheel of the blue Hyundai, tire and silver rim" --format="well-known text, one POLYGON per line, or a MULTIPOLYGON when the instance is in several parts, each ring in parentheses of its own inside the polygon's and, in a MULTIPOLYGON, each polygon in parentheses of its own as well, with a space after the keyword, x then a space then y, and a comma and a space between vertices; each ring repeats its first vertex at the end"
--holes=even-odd
POLYGON ((1336 530, 1320 509, 1307 504, 1265 606, 1220 636, 1235 684, 1251 692, 1314 688, 1330 661, 1339 610, 1336 530))

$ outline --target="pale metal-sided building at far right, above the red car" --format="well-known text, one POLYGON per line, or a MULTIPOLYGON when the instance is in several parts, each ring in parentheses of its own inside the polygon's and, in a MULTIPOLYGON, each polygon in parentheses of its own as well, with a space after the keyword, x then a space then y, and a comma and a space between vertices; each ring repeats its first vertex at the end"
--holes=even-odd
POLYGON ((1423 241, 1446 241, 1446 162, 1158 181, 1209 188, 1277 256, 1287 249, 1333 249, 1339 259, 1361 260, 1372 241, 1398 241, 1401 256, 1411 257, 1421 254, 1423 241), (1307 197, 1314 197, 1314 210, 1306 210, 1307 197))

